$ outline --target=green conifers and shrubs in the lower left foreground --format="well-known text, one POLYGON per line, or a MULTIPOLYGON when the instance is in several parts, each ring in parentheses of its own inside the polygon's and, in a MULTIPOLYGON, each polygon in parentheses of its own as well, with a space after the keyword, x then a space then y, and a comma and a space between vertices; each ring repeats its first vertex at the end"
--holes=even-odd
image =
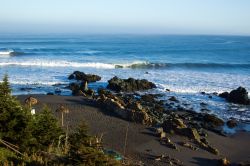
POLYGON ((48 107, 32 115, 11 95, 8 76, 0 83, 0 165, 120 165, 82 122, 68 133, 48 107))

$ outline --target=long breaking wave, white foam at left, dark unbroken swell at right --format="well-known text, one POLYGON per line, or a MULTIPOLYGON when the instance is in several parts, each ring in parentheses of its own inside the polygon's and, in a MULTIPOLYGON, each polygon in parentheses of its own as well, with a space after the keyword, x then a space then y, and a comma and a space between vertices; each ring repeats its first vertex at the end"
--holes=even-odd
POLYGON ((250 64, 234 63, 150 63, 135 61, 132 63, 112 64, 101 62, 70 62, 70 61, 25 61, 25 62, 0 62, 0 66, 41 66, 41 67, 88 67, 88 68, 131 68, 131 69, 168 69, 168 68, 245 68, 250 69, 250 64))

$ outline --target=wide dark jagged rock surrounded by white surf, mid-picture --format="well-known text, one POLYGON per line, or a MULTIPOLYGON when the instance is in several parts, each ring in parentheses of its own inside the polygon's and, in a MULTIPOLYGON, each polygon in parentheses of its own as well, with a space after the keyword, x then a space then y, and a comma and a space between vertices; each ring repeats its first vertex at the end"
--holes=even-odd
POLYGON ((152 82, 149 82, 145 79, 136 80, 133 78, 120 79, 118 77, 113 77, 108 81, 108 89, 111 89, 116 92, 134 92, 140 90, 148 90, 156 88, 156 85, 152 82))

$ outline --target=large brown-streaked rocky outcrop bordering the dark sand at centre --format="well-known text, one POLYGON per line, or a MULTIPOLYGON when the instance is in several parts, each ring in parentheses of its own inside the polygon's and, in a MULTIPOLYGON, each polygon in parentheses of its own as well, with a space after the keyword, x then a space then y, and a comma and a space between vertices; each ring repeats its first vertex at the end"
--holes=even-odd
POLYGON ((99 89, 95 98, 98 105, 123 119, 144 125, 157 123, 162 118, 160 108, 163 108, 163 103, 157 101, 155 95, 136 95, 114 94, 111 91, 99 89))

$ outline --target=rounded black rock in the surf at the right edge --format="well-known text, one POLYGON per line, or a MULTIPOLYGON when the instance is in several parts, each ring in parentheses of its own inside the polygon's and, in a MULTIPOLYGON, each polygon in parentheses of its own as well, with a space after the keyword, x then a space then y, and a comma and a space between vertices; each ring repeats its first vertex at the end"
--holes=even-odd
POLYGON ((250 100, 248 98, 248 92, 243 87, 239 87, 236 90, 232 90, 229 93, 227 100, 229 102, 236 104, 245 104, 245 105, 250 104, 250 100))

